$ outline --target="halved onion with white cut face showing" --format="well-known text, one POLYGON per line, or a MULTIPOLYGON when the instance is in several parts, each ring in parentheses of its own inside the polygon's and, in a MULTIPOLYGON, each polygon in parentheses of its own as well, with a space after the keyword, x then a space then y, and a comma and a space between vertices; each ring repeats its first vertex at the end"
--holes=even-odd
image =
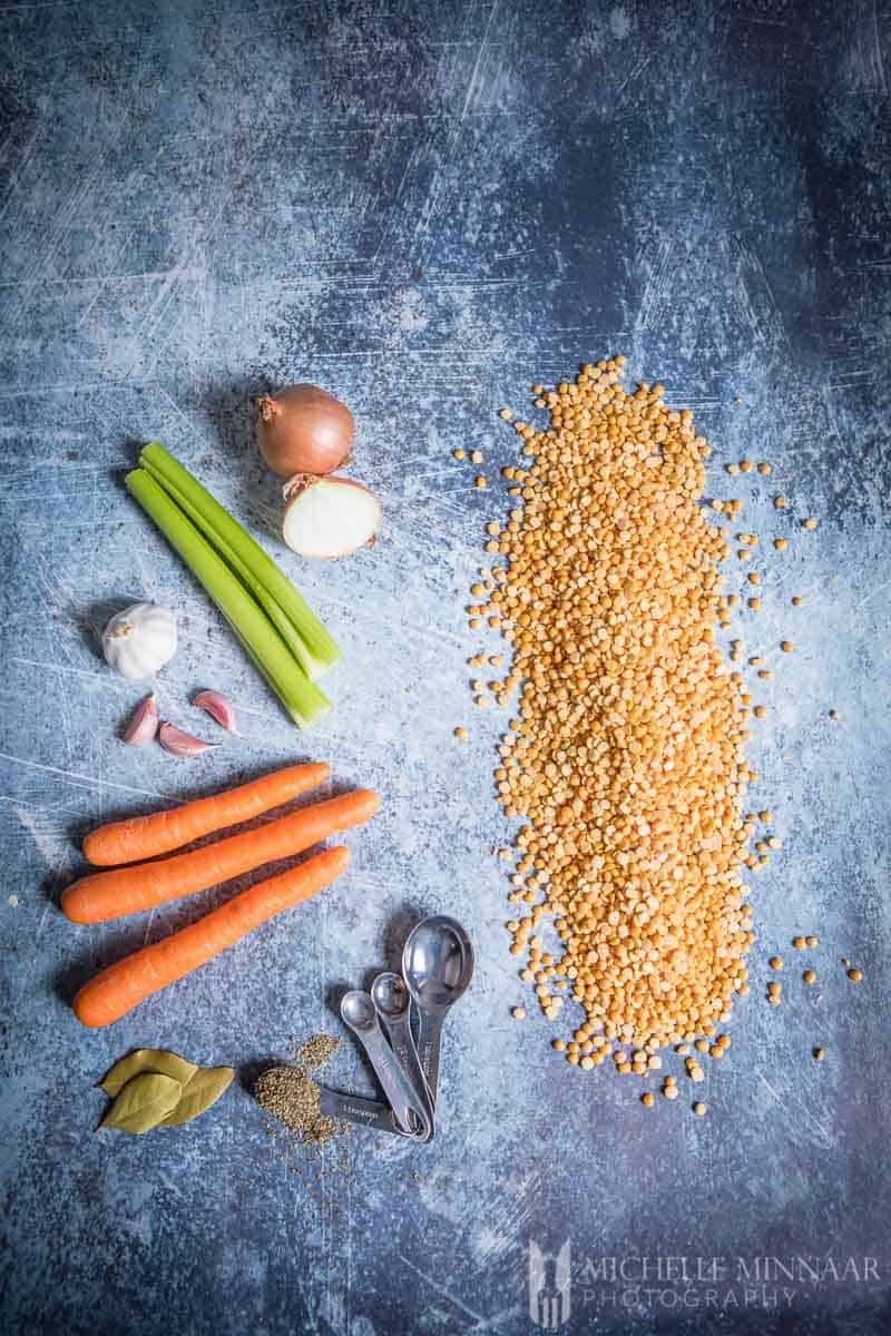
POLYGON ((302 557, 345 557, 374 542, 381 502, 351 478, 291 478, 282 537, 302 557))

